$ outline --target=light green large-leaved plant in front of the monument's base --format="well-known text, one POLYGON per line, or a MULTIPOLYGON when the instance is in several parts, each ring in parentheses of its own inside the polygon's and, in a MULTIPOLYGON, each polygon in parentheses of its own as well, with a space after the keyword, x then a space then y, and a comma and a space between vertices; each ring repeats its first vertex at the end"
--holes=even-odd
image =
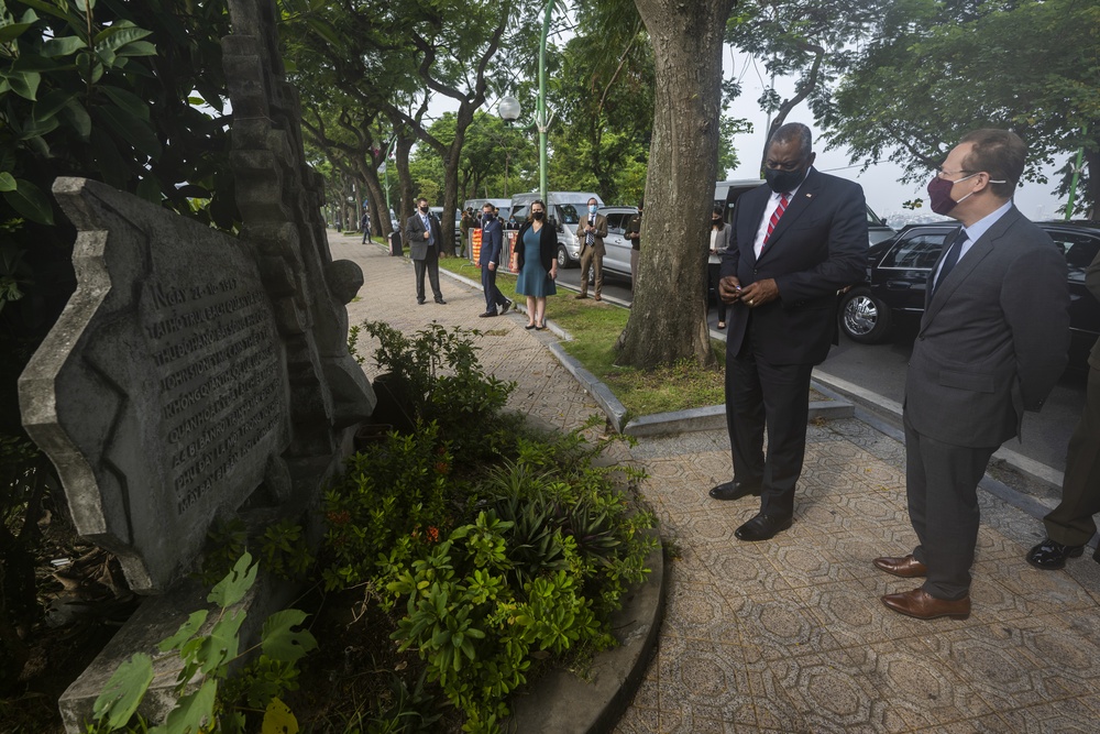
MULTIPOLYGON (((157 646, 164 655, 178 656, 183 667, 176 678, 176 705, 163 725, 148 730, 151 734, 243 732, 245 712, 234 704, 242 697, 250 708, 264 712, 264 731, 297 730, 294 714, 278 697, 297 688, 295 664, 317 647, 317 640, 309 632, 295 629, 306 620, 304 612, 285 610, 267 617, 256 646, 240 650, 245 612, 233 607, 255 583, 256 570, 252 556, 245 552, 207 596, 218 609, 210 631, 202 634, 210 613, 199 610, 157 646), (258 659, 229 682, 230 666, 256 649, 261 650, 258 659)), ((96 699, 94 731, 125 727, 153 680, 153 659, 144 653, 120 665, 96 699)))

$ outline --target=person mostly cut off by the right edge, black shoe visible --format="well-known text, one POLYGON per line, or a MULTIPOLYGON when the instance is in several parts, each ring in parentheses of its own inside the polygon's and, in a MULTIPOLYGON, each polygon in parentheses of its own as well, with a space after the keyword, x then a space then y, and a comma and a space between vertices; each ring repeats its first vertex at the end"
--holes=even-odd
MULTIPOLYGON (((1100 255, 1085 271, 1085 286, 1100 300, 1100 255)), ((1100 513, 1100 339, 1089 353, 1089 381, 1085 392, 1085 412, 1069 437, 1066 473, 1062 481, 1062 502, 1043 518, 1046 539, 1025 559, 1035 568, 1053 571, 1066 567, 1066 559, 1085 552, 1100 513)), ((1092 554, 1100 563, 1100 548, 1092 554)))

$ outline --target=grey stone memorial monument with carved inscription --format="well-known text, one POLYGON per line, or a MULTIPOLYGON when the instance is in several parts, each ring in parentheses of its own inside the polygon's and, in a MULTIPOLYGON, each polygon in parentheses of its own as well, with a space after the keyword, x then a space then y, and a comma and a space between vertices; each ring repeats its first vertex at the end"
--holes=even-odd
MULTIPOLYGON (((229 8, 241 237, 96 182, 54 185, 78 231, 78 283, 20 377, 23 424, 57 467, 78 533, 120 558, 135 591, 158 595, 62 697, 74 732, 117 665, 201 601, 182 580, 213 521, 305 517, 375 405, 346 341, 363 274, 328 249, 274 0, 229 8)), ((285 598, 257 583, 250 603, 285 598)))

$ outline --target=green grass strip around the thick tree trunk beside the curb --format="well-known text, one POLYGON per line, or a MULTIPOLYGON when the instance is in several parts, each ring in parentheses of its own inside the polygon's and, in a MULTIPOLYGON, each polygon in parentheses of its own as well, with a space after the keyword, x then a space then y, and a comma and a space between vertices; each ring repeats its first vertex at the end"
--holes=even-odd
MULTIPOLYGON (((481 269, 468 260, 444 258, 439 265, 481 282, 481 269)), ((515 275, 501 273, 496 283, 505 296, 526 304, 526 296, 516 295, 515 275)), ((719 405, 725 401, 723 342, 711 342, 718 361, 713 370, 700 370, 689 363, 658 370, 617 366, 615 340, 626 327, 630 311, 608 303, 576 300, 573 295, 572 291, 559 288, 557 296, 547 299, 547 316, 573 336, 573 341, 562 342, 562 347, 615 393, 629 417, 719 405)))

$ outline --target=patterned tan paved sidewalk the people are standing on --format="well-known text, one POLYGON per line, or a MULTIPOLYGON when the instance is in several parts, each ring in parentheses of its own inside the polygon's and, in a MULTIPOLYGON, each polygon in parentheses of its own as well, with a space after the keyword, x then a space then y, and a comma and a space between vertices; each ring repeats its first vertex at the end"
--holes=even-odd
MULTIPOLYGON (((407 261, 330 242, 366 278, 352 324, 479 328, 486 370, 519 383, 509 408, 565 429, 598 412, 550 353, 556 337, 526 331, 522 315, 477 318, 481 292, 447 276, 448 304, 417 306, 407 261)), ((921 622, 879 602, 916 583, 871 566, 915 541, 895 439, 854 418, 811 425, 794 526, 760 544, 734 538, 755 501, 706 496, 729 479, 724 430, 616 447, 649 473, 642 490, 674 551, 658 653, 617 734, 1096 731, 1100 565, 1089 554, 1032 569, 1023 554, 1044 533, 1022 511, 979 492, 974 613, 921 622)))

